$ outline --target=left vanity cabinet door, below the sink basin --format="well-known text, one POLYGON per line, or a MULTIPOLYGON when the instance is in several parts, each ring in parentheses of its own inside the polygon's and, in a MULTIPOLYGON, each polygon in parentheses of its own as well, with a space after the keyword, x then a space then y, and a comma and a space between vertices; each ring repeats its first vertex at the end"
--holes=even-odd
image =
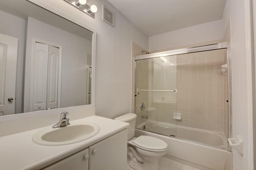
POLYGON ((72 154, 54 164, 46 166, 42 170, 89 170, 89 149, 72 154))

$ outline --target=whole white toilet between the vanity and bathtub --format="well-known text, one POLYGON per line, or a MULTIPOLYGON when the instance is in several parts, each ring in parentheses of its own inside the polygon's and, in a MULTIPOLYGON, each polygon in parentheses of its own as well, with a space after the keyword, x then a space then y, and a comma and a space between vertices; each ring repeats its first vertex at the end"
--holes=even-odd
POLYGON ((143 162, 143 170, 159 170, 158 158, 166 154, 168 145, 166 142, 155 137, 134 137, 136 117, 137 115, 134 113, 127 113, 115 118, 115 120, 130 123, 128 128, 127 154, 134 164, 137 161, 143 162))

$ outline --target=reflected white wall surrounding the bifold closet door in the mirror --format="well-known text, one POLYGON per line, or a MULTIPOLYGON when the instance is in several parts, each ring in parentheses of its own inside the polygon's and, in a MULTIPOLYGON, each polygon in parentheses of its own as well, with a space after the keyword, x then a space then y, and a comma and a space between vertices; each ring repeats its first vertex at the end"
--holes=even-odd
POLYGON ((32 38, 62 45, 61 107, 85 104, 86 55, 92 54, 92 41, 28 17, 24 111, 29 107, 32 38))

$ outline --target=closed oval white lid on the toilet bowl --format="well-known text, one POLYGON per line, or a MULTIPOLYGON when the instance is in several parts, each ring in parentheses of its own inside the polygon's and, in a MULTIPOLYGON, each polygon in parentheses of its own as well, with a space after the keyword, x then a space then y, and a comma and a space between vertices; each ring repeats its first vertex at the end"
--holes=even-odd
POLYGON ((167 149, 168 145, 161 139, 150 136, 139 136, 133 141, 134 145, 140 149, 161 152, 167 149))

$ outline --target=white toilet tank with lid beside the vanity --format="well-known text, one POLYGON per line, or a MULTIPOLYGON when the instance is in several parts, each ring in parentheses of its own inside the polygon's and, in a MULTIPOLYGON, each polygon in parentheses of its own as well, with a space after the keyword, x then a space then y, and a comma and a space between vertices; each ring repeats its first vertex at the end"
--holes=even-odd
POLYGON ((137 115, 134 113, 127 113, 125 115, 118 116, 114 119, 114 120, 130 123, 130 127, 128 127, 128 140, 130 140, 130 139, 132 139, 132 137, 134 137, 136 117, 137 117, 137 115))

